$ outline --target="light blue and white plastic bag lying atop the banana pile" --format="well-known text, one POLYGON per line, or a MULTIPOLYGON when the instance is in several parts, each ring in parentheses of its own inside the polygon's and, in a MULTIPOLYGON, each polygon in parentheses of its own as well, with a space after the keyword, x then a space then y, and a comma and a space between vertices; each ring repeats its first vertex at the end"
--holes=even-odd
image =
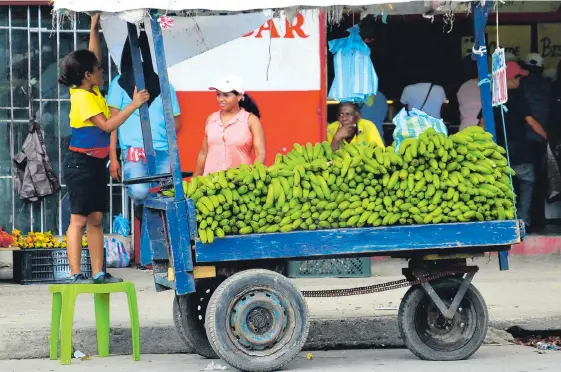
POLYGON ((448 129, 444 120, 434 118, 426 112, 412 109, 407 111, 401 109, 393 118, 395 129, 393 131, 393 139, 395 141, 395 150, 399 150, 399 145, 406 138, 417 138, 428 128, 433 128, 437 133, 448 135, 448 129))

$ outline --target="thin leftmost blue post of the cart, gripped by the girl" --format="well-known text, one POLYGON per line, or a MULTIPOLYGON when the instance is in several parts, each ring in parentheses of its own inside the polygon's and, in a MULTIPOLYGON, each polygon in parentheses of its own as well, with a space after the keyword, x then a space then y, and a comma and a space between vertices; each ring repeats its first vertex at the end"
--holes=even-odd
MULTIPOLYGON (((129 33, 129 43, 131 48, 132 66, 134 69, 134 81, 136 88, 141 91, 145 88, 144 70, 142 68, 142 59, 140 57, 140 46, 138 43, 138 33, 136 25, 127 23, 129 33)), ((140 124, 142 128, 142 140, 144 142, 144 152, 146 153, 146 162, 148 164, 148 176, 156 175, 156 153, 154 152, 154 143, 152 141, 152 129, 150 127, 150 114, 148 104, 140 107, 140 124)))

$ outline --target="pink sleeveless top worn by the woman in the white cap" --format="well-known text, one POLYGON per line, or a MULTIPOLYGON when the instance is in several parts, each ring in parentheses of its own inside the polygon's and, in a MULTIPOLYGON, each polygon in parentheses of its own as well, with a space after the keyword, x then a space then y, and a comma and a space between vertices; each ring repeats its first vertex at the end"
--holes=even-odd
POLYGON ((220 111, 210 116, 206 127, 208 152, 204 174, 252 164, 253 134, 249 130, 249 116, 244 109, 226 125, 222 124, 220 111))

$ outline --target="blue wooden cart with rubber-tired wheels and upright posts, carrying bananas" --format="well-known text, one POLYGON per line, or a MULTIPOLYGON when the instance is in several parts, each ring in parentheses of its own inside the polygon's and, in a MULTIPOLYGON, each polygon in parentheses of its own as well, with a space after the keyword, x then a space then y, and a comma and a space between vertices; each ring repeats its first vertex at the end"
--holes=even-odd
MULTIPOLYGON (((475 48, 485 50, 485 26, 492 2, 472 4, 475 48)), ((91 9, 96 10, 96 9, 91 9)), ((182 189, 177 140, 166 72, 164 41, 156 17, 152 30, 169 141, 172 173, 129 180, 167 179, 182 189)), ((136 27, 129 38, 137 86, 144 78, 136 27)), ((488 77, 487 54, 477 55, 479 78, 488 77)), ((488 81, 488 80, 487 80, 488 81)), ((495 133, 489 84, 481 84, 486 130, 495 133)), ((148 109, 140 110, 148 165, 154 151, 148 109)), ((524 238, 521 221, 298 231, 229 236, 202 244, 195 207, 183 193, 151 196, 144 205, 142 250, 149 250, 158 291, 174 290, 174 320, 184 342, 200 355, 220 357, 244 371, 272 371, 301 351, 309 329, 305 296, 374 293, 410 286, 399 309, 399 331, 407 347, 427 360, 470 357, 488 328, 485 301, 471 284, 477 267, 467 258, 497 252, 508 269, 508 251, 524 238), (409 260, 405 279, 385 285, 300 292, 283 273, 289 259, 390 256, 409 260)))

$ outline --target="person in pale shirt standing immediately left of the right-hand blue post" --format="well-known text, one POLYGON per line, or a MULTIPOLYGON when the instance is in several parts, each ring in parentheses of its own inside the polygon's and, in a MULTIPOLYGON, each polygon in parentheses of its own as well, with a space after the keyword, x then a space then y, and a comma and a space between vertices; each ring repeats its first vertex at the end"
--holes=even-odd
POLYGON ((470 57, 464 60, 465 76, 467 79, 462 84, 456 97, 460 108, 460 130, 473 125, 479 125, 479 112, 481 111, 481 93, 479 91, 479 79, 477 65, 470 57))

